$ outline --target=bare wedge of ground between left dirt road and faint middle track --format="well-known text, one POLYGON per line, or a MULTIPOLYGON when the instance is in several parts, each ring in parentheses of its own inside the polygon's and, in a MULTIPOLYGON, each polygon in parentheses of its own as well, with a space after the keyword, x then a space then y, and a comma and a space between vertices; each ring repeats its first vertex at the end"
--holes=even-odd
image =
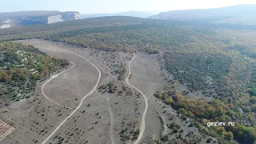
POLYGON ((50 143, 111 143, 110 114, 105 98, 95 92, 86 98, 75 113, 52 138, 50 143))

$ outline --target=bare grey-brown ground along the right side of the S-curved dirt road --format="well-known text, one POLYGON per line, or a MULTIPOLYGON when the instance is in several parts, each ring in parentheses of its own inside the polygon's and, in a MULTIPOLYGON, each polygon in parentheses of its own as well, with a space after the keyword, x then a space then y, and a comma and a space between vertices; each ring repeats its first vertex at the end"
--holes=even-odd
MULTIPOLYGON (((137 54, 134 61, 131 63, 130 83, 136 86, 146 95, 147 98, 157 90, 162 90, 168 83, 161 76, 160 66, 158 64, 158 55, 137 54)), ((160 137, 161 122, 156 113, 154 102, 149 102, 149 109, 146 114, 146 129, 144 140, 160 137), (153 104, 153 107, 152 107, 153 104)), ((143 142, 143 141, 142 141, 143 142)))

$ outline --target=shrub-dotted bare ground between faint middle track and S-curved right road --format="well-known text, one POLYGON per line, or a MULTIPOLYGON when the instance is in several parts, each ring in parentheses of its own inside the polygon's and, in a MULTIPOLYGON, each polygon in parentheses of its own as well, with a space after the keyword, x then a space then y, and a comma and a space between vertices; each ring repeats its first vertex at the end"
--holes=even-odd
POLYGON ((116 86, 114 94, 108 93, 106 89, 98 89, 98 94, 102 98, 109 99, 113 119, 113 142, 132 143, 136 140, 133 138, 133 134, 139 130, 142 112, 145 109, 142 95, 131 89, 124 80, 127 77, 127 63, 132 54, 100 50, 90 50, 89 52, 89 50, 78 48, 74 49, 74 52, 79 52, 86 58, 90 58, 102 70, 102 80, 99 86, 106 86, 109 82, 113 82, 116 86), (119 74, 116 74, 115 71, 123 69, 126 74, 118 80, 119 74))

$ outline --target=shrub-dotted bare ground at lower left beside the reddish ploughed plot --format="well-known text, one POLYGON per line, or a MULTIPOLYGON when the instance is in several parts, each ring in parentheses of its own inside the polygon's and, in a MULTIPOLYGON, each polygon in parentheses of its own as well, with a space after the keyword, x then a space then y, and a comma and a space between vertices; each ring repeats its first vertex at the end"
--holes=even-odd
POLYGON ((70 110, 43 98, 38 86, 34 97, 24 102, 14 102, 0 109, 0 117, 16 129, 1 143, 38 143, 54 130, 54 127, 70 114, 70 110), (9 112, 3 113, 8 109, 9 112))

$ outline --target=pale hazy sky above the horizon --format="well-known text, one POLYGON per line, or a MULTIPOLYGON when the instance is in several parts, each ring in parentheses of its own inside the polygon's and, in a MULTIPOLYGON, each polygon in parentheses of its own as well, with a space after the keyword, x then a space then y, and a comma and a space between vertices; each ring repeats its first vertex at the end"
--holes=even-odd
POLYGON ((24 10, 75 10, 81 14, 129 10, 170 11, 256 4, 256 0, 0 0, 0 12, 24 10))

